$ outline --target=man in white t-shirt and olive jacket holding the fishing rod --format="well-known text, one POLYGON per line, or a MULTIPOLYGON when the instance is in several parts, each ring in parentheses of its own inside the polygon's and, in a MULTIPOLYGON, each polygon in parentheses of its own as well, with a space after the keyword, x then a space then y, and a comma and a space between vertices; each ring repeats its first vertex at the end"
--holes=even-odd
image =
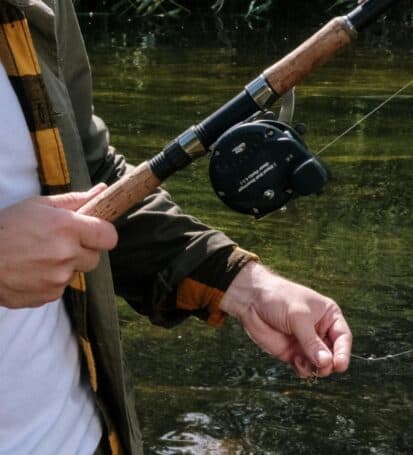
POLYGON ((165 326, 233 315, 302 377, 345 371, 351 333, 332 300, 162 190, 116 229, 76 213, 129 167, 92 113, 72 2, 0 0, 0 16, 0 455, 141 453, 114 289, 165 326))

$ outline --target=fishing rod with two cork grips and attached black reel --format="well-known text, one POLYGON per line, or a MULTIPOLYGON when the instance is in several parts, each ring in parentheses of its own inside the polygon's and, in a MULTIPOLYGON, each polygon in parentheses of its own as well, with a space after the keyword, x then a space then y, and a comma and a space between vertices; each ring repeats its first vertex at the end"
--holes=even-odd
POLYGON ((299 131, 282 121, 259 119, 256 115, 266 112, 277 99, 349 45, 359 31, 397 1, 366 0, 347 15, 332 19, 229 102, 180 134, 79 212, 114 221, 169 176, 210 151, 211 184, 217 196, 238 212, 259 218, 292 198, 319 193, 329 172, 308 149, 299 131))

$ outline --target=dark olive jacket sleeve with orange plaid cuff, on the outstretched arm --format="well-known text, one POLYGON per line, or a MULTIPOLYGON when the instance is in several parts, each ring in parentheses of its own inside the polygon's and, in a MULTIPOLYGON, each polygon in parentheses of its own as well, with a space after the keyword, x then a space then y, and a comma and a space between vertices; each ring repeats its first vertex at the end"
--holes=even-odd
MULTIPOLYGON (((71 2, 59 29, 70 41, 64 49, 65 82, 93 184, 113 183, 131 170, 109 144, 104 122, 93 114, 91 76, 71 2)), ((115 290, 156 324, 171 326, 195 314, 219 325, 218 304, 241 267, 254 255, 222 232, 182 213, 158 189, 116 222, 119 243, 110 254, 115 290)))

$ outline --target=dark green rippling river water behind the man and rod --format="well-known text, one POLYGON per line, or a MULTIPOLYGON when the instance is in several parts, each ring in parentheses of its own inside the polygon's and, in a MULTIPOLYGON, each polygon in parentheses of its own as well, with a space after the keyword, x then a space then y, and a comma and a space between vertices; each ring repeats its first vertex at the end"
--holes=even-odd
MULTIPOLYGON (((187 21, 188 22, 188 21, 187 21)), ((319 24, 204 20, 141 32, 82 18, 96 112, 132 162, 235 95, 319 24)), ((297 89, 297 122, 317 151, 412 79, 412 28, 382 24, 297 89)), ((326 150, 333 178, 259 221, 218 201, 203 159, 165 187, 281 274, 333 297, 354 354, 413 349, 413 86, 326 150)), ((413 354, 353 359, 308 385, 260 352, 235 321, 152 327, 120 304, 151 454, 413 453, 413 354)))

